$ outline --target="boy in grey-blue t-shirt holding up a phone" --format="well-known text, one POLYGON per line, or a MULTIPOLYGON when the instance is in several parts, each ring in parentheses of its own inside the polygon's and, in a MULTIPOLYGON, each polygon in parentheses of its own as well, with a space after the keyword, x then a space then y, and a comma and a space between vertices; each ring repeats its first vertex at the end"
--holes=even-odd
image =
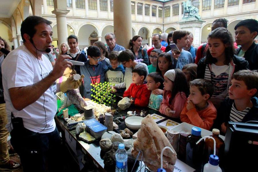
POLYGON ((171 54, 172 58, 172 69, 181 69, 184 65, 193 63, 193 57, 189 51, 184 50, 188 45, 188 36, 190 32, 187 30, 175 30, 173 33, 173 42, 177 45, 180 52, 170 50, 168 53, 171 54))

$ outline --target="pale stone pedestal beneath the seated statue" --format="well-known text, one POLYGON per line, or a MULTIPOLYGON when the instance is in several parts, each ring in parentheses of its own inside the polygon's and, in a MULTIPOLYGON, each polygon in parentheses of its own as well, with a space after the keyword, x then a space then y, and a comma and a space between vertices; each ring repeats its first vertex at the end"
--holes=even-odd
POLYGON ((194 16, 183 17, 180 22, 177 22, 181 29, 188 30, 193 34, 193 45, 199 46, 201 44, 202 24, 204 20, 198 20, 194 16))

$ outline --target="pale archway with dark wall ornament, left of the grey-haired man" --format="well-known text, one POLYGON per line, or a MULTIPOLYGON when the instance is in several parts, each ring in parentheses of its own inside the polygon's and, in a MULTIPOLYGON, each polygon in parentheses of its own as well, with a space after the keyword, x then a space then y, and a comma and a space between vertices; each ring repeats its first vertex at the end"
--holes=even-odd
POLYGON ((91 24, 85 24, 81 26, 78 32, 79 49, 89 47, 90 45, 93 44, 92 43, 93 41, 97 41, 99 36, 98 33, 99 31, 97 30, 97 28, 91 24), (96 33, 96 37, 94 37, 95 39, 90 38, 90 35, 93 32, 96 33))

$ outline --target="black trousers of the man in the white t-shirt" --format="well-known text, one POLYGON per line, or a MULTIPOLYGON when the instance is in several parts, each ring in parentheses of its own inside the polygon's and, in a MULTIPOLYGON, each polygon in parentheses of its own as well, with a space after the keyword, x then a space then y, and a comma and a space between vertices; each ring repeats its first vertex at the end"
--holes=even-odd
POLYGON ((36 133, 26 128, 11 131, 11 144, 26 171, 63 171, 61 140, 57 128, 50 133, 36 133))

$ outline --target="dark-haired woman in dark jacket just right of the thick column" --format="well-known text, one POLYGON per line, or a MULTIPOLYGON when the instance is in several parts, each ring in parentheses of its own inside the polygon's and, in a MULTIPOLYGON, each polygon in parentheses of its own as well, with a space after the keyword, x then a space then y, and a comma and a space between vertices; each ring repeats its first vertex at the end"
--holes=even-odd
POLYGON ((142 48, 142 37, 141 36, 134 36, 130 42, 131 51, 134 54, 134 60, 137 62, 145 63, 146 65, 149 64, 147 50, 142 48))

